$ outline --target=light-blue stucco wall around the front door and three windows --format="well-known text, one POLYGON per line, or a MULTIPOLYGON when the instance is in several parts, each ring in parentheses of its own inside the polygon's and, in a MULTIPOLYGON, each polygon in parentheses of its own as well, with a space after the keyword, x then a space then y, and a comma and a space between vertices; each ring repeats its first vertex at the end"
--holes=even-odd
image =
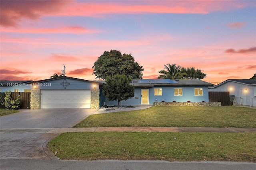
MULTIPOLYGON (((151 88, 135 88, 134 98, 128 99, 127 101, 122 101, 122 105, 140 105, 141 104, 141 89, 149 89, 149 104, 153 105, 154 102, 202 102, 202 101, 209 101, 208 97, 208 87, 200 87, 200 86, 193 86, 193 87, 151 87, 151 88), (154 88, 162 88, 162 95, 155 96, 154 95, 154 88), (174 88, 182 88, 182 96, 174 96, 174 88), (194 95, 194 88, 202 88, 203 95, 202 96, 195 96, 194 95), (138 99, 136 99, 138 97, 138 99)), ((117 101, 108 101, 105 98, 105 105, 117 105, 117 101)))

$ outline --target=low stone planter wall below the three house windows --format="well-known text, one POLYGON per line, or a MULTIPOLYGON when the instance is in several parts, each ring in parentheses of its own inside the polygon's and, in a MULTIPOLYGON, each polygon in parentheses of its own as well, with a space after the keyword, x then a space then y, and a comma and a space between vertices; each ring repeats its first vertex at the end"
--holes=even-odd
POLYGON ((154 102, 154 106, 221 106, 220 102, 154 102))

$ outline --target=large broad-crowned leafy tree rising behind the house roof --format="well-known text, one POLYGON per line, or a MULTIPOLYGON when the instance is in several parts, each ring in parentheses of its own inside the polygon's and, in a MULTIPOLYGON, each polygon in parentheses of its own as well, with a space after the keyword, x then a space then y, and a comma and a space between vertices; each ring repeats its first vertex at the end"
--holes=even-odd
POLYGON ((97 79, 106 79, 107 76, 116 74, 131 76, 132 79, 142 79, 144 70, 138 62, 134 61, 131 54, 122 54, 112 49, 104 53, 94 62, 93 73, 97 79))

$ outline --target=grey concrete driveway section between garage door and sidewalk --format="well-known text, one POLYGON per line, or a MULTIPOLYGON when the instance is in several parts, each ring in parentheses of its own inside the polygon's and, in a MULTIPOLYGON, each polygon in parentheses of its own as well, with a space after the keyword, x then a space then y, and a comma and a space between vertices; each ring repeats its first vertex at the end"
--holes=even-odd
POLYGON ((0 117, 0 128, 72 127, 94 112, 96 110, 92 109, 22 110, 15 114, 0 117))

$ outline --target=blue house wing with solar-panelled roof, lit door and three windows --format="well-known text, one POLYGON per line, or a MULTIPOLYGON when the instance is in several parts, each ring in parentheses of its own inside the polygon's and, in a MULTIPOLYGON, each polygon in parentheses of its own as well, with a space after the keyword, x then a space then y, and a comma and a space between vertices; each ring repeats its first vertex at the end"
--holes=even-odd
MULTIPOLYGON (((122 105, 153 105, 154 102, 208 102, 208 87, 213 86, 197 79, 134 79, 134 97, 122 101, 122 105)), ((108 101, 105 105, 117 105, 117 101, 108 101)))

